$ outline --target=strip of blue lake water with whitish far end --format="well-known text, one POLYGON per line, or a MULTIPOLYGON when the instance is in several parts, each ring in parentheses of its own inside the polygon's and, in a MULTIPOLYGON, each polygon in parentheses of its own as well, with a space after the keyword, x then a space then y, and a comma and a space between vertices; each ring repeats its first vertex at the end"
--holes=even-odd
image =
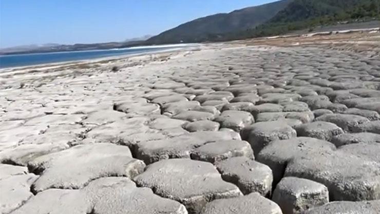
POLYGON ((157 46, 143 46, 143 47, 130 47, 121 49, 107 49, 107 50, 82 50, 82 51, 65 51, 65 52, 48 52, 48 53, 28 53, 17 55, 3 55, 0 56, 0 68, 37 65, 54 62, 66 62, 73 60, 88 60, 102 57, 113 57, 121 55, 132 55, 137 53, 148 53, 154 51, 163 51, 173 48, 183 48, 190 44, 177 44, 177 45, 157 45, 157 46))

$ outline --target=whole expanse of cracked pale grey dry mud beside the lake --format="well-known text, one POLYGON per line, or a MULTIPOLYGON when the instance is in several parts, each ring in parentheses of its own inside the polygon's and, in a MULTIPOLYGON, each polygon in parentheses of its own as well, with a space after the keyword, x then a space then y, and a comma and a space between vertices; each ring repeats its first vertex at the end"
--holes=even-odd
POLYGON ((0 213, 380 213, 380 57, 339 48, 3 70, 0 213))

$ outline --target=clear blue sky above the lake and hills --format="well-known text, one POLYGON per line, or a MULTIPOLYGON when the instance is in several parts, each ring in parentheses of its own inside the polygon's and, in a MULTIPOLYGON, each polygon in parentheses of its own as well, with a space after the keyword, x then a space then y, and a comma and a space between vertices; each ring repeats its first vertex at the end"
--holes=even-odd
POLYGON ((123 41, 274 0, 0 0, 0 47, 123 41))

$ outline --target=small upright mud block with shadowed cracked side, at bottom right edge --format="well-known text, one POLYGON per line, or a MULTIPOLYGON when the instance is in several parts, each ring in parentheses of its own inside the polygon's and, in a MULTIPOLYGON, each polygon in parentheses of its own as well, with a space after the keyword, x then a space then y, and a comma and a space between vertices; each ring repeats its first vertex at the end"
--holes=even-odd
POLYGON ((284 214, 301 213, 329 202, 329 191, 325 185, 297 177, 284 177, 277 184, 272 200, 284 214))

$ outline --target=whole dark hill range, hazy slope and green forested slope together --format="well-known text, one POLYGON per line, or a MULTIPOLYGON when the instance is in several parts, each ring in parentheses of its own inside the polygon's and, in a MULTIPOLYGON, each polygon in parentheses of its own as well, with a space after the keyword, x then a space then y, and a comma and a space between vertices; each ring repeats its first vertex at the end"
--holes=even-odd
POLYGON ((162 44, 246 39, 373 19, 380 19, 380 0, 279 1, 203 17, 167 30, 146 42, 162 44))

